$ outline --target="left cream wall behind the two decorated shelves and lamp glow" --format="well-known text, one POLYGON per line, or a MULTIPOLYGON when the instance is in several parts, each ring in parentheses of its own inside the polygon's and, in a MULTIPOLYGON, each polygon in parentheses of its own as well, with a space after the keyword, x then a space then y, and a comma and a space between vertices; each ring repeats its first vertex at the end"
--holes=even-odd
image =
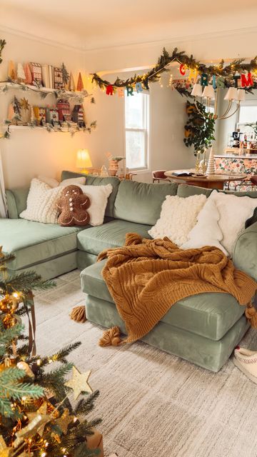
MULTIPOLYGON (((79 71, 84 69, 84 56, 76 51, 49 46, 39 41, 26 39, 21 36, 7 34, 0 31, 2 39, 6 39, 0 65, 0 79, 6 79, 9 60, 14 62, 35 61, 41 64, 52 65, 66 64, 68 71, 72 71, 77 80, 79 71)), ((39 95, 31 94, 30 91, 7 91, 0 94, 0 120, 7 117, 7 110, 12 97, 29 99, 33 104, 46 106, 54 104, 56 99, 53 95, 47 96, 44 101, 39 95)), ((87 108, 90 101, 86 101, 87 108)), ((91 121, 93 119, 89 119, 91 121)), ((29 184, 36 174, 45 174, 59 178, 63 169, 74 169, 76 151, 86 147, 86 139, 89 134, 79 132, 73 138, 70 134, 51 133, 39 131, 39 129, 18 129, 11 132, 10 139, 1 139, 0 148, 4 167, 4 180, 6 187, 18 187, 29 184)))

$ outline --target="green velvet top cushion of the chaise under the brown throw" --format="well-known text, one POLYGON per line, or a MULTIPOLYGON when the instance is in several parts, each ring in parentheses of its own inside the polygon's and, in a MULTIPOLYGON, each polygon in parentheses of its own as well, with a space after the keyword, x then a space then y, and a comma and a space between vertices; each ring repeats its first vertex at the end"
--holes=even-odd
MULTIPOLYGON (((113 302, 101 276, 105 261, 94 263, 81 271, 82 291, 103 301, 113 302)), ((162 322, 183 328, 212 340, 221 339, 245 310, 228 293, 199 293, 183 298, 166 313, 162 322)))

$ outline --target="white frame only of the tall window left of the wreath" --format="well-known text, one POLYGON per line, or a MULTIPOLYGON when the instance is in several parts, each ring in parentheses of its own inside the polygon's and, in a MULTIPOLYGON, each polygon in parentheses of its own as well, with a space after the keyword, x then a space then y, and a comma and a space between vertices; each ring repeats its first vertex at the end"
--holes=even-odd
MULTIPOLYGON (((126 154, 126 132, 127 131, 139 131, 143 132, 144 134, 144 162, 145 166, 141 167, 134 167, 134 168, 126 168, 129 169, 129 172, 138 171, 139 173, 145 173, 150 170, 150 94, 148 92, 140 92, 140 94, 145 95, 143 97, 143 127, 136 128, 136 127, 126 127, 126 95, 124 96, 124 151, 125 151, 125 158, 127 157, 126 154)), ((131 95, 130 95, 131 96, 131 95)))

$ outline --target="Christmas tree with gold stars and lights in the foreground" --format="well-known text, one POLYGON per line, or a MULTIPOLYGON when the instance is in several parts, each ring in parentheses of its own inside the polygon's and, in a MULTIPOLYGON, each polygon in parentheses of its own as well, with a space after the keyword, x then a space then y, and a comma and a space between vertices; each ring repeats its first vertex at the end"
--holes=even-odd
POLYGON ((101 420, 86 418, 99 391, 92 393, 87 383, 90 371, 80 373, 67 361, 80 343, 51 356, 36 355, 31 291, 55 284, 31 271, 9 276, 6 265, 13 258, 0 248, 0 457, 99 455, 89 448, 89 439, 101 420), (21 323, 24 314, 29 336, 21 323), (66 381, 71 370, 73 377, 66 381))

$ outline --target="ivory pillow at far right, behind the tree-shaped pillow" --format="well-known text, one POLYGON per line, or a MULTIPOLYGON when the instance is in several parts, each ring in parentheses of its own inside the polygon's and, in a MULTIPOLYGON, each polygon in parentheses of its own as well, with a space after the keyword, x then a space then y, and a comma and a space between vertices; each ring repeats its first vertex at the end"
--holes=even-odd
POLYGON ((223 233, 221 243, 232 256, 236 238, 244 230, 246 220, 253 215, 253 211, 257 206, 257 199, 212 191, 208 200, 216 204, 220 215, 218 226, 223 233))

